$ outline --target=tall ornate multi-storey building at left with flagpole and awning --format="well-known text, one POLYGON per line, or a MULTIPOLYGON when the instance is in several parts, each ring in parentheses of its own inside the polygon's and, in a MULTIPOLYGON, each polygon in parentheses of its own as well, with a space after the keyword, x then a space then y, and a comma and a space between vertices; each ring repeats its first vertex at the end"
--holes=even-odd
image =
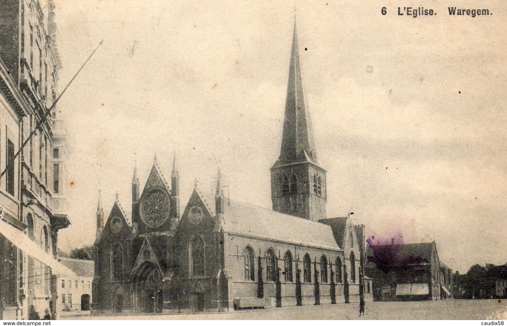
POLYGON ((58 94, 60 68, 53 18, 52 1, 45 6, 38 0, 0 5, 3 319, 55 318, 54 275, 73 274, 54 259, 58 230, 69 219, 65 131, 57 109, 49 111, 58 94))

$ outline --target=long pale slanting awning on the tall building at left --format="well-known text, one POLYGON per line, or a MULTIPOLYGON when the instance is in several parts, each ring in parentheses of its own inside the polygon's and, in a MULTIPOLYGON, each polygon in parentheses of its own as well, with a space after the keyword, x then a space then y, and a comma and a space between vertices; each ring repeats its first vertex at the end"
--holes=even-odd
POLYGON ((13 245, 21 249, 25 254, 39 260, 39 262, 51 268, 53 275, 75 277, 76 273, 62 265, 52 255, 41 249, 35 242, 31 241, 23 231, 0 220, 0 234, 6 237, 13 245))

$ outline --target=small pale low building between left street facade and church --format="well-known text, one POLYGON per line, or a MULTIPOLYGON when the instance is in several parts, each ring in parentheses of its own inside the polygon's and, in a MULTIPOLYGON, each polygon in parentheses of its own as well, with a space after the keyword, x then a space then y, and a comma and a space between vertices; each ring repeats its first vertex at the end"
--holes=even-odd
POLYGON ((56 310, 87 311, 91 308, 93 260, 58 257, 58 261, 76 273, 76 277, 58 276, 56 292, 58 301, 56 310))

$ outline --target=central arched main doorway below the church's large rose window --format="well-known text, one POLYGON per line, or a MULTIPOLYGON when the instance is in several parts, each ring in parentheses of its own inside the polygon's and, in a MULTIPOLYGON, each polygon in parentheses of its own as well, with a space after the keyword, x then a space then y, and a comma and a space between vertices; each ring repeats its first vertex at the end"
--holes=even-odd
POLYGON ((135 294, 138 311, 161 313, 163 306, 162 275, 151 262, 144 262, 135 273, 135 294))

